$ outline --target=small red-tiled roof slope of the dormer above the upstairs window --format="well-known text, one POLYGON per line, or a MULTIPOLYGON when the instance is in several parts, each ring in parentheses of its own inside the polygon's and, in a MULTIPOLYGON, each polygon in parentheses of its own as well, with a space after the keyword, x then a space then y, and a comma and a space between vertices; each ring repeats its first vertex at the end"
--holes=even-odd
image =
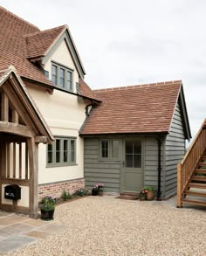
POLYGON ((45 56, 67 28, 66 25, 59 26, 46 31, 38 31, 25 35, 27 45, 27 58, 33 59, 45 56))

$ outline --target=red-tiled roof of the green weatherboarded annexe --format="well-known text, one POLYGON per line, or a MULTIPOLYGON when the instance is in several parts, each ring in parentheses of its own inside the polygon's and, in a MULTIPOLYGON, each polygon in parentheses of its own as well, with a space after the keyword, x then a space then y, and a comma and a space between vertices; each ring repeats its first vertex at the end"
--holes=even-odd
POLYGON ((94 91, 102 103, 93 108, 81 135, 168 132, 182 81, 94 91))

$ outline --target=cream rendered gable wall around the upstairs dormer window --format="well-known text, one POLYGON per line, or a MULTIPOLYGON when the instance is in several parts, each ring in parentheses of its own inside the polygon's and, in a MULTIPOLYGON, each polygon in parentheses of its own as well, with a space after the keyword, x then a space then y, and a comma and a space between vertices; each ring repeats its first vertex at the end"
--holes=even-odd
POLYGON ((60 43, 60 45, 58 46, 58 49, 52 54, 51 58, 48 59, 48 61, 45 63, 45 66, 43 66, 43 68, 49 72, 50 80, 52 80, 52 66, 51 66, 52 61, 57 62, 58 64, 61 64, 62 66, 66 66, 73 70, 72 92, 76 93, 77 92, 76 83, 79 82, 79 74, 72 61, 72 57, 70 55, 68 47, 65 44, 65 40, 60 43))

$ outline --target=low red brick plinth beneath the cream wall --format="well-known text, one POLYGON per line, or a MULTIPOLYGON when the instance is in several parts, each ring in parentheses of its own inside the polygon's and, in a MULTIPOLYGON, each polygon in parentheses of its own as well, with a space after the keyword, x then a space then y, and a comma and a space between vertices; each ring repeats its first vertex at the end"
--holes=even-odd
POLYGON ((59 198, 63 190, 69 191, 72 195, 75 190, 85 188, 85 179, 76 179, 72 181, 64 181, 58 183, 48 183, 38 185, 38 202, 45 196, 59 198))

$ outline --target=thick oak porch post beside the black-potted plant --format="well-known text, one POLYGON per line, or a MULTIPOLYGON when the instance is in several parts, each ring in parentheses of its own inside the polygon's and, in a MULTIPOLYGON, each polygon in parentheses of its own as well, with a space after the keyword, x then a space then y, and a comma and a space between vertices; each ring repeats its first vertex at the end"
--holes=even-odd
POLYGON ((30 216, 38 217, 38 143, 34 138, 27 140, 30 163, 30 216))

